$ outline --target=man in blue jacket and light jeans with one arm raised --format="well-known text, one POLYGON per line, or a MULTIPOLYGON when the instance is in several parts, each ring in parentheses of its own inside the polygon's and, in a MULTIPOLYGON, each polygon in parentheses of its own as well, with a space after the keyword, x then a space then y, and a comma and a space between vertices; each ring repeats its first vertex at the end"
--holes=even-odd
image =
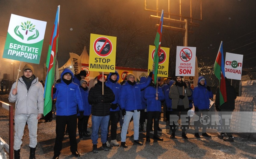
POLYGON ((127 73, 127 82, 122 85, 120 90, 120 107, 122 109, 122 114, 124 116, 123 127, 121 131, 121 146, 124 148, 128 148, 126 141, 126 132, 128 130, 128 126, 130 124, 130 120, 133 117, 133 131, 134 143, 139 145, 143 145, 139 141, 139 118, 140 118, 140 110, 142 110, 141 105, 141 90, 146 88, 152 79, 152 72, 149 73, 149 76, 144 83, 135 82, 135 77, 133 73, 127 73))

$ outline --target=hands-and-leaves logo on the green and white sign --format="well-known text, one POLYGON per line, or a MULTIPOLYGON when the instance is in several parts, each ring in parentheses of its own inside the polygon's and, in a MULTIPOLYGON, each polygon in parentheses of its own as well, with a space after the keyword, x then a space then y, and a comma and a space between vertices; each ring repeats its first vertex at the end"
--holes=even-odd
POLYGON ((33 39, 36 39, 39 37, 39 31, 35 28, 36 25, 33 25, 30 21, 27 21, 27 22, 21 22, 21 25, 20 26, 16 26, 15 29, 14 29, 14 33, 20 37, 22 40, 24 40, 24 33, 22 34, 20 31, 19 31, 19 28, 21 28, 21 30, 24 30, 26 31, 25 32, 25 35, 28 34, 28 32, 34 32, 35 31, 35 34, 29 36, 27 38, 27 41, 29 40, 33 40, 33 39), (35 30, 36 29, 36 30, 35 30))

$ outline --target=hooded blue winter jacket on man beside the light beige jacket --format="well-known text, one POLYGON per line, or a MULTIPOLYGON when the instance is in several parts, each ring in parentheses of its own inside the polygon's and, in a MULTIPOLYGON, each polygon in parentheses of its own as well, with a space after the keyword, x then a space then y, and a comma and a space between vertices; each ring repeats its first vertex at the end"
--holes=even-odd
MULTIPOLYGON (((61 82, 55 84, 56 93, 53 94, 53 99, 56 98, 56 115, 71 116, 77 114, 76 106, 79 111, 83 111, 83 100, 80 89, 77 84, 71 82, 67 85, 63 81, 64 73, 70 73, 73 78, 73 73, 70 69, 64 69, 61 73, 61 82)), ((72 79, 71 79, 72 80, 72 79)))

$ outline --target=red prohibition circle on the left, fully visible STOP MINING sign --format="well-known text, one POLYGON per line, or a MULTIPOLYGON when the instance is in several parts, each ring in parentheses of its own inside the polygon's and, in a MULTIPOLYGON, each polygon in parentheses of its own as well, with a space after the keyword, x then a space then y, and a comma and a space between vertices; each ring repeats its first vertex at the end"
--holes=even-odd
POLYGON ((94 51, 101 57, 106 57, 112 52, 112 43, 108 38, 100 37, 94 41, 94 51))

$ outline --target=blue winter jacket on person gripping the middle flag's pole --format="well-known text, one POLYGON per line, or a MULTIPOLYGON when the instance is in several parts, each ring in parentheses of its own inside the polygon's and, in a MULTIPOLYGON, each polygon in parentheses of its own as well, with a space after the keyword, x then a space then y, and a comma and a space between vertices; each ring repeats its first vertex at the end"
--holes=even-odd
POLYGON ((158 100, 156 100, 156 88, 149 85, 145 88, 144 98, 147 100, 147 112, 161 112, 161 101, 164 101, 164 94, 162 88, 157 88, 158 100))

